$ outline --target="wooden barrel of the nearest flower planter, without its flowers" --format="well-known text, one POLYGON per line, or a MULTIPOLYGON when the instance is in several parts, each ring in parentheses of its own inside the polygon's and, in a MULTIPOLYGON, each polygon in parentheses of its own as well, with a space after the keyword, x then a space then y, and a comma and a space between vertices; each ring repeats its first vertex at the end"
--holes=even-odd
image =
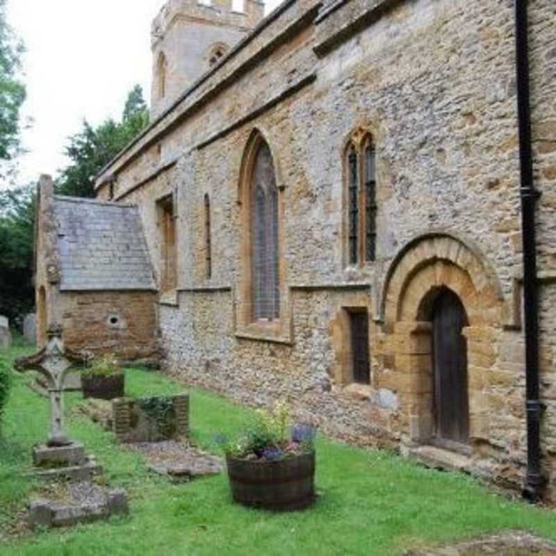
POLYGON ((287 511, 314 500, 315 453, 277 461, 226 458, 231 495, 245 506, 287 511))

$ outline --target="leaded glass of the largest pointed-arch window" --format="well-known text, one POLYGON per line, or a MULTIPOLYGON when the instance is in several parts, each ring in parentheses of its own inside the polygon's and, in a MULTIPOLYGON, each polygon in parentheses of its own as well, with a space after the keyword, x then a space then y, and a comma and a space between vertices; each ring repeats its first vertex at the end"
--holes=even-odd
POLYGON ((278 188, 270 148, 261 140, 251 183, 253 320, 280 316, 278 188))

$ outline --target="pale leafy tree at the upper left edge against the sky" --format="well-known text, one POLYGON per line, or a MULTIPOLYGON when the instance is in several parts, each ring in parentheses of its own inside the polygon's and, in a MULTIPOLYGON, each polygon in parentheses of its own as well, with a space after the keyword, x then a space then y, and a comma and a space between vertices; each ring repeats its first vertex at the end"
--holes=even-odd
POLYGON ((0 0, 0 160, 9 160, 19 145, 19 109, 25 86, 17 74, 24 47, 6 22, 6 0, 0 0))

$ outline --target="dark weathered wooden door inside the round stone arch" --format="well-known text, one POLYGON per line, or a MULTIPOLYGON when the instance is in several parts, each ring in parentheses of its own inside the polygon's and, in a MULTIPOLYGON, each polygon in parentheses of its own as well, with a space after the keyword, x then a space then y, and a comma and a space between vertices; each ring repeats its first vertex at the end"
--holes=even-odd
POLYGON ((448 289, 441 293, 432 323, 436 436, 465 444, 469 440, 467 343, 461 331, 468 321, 455 293, 448 289))

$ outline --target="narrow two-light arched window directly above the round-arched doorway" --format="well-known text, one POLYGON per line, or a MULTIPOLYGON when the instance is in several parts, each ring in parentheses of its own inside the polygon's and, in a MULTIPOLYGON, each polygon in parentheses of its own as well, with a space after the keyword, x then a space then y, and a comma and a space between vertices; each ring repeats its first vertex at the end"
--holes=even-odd
POLYGON ((358 130, 345 154, 347 262, 357 265, 377 256, 377 179, 373 138, 358 130))

